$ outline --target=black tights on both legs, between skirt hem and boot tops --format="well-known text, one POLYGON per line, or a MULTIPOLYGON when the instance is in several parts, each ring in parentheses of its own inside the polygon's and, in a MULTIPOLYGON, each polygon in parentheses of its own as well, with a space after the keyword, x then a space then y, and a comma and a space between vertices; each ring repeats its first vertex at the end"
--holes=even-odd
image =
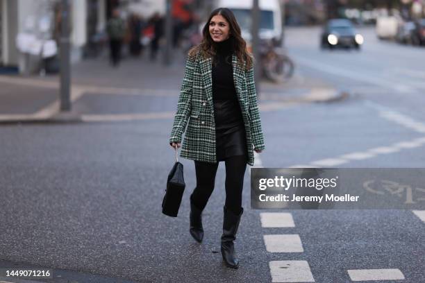
MULTIPOLYGON (((226 208, 235 214, 240 214, 242 208, 242 189, 244 187, 244 174, 247 169, 247 156, 237 155, 227 157, 226 165, 226 208)), ((208 199, 213 194, 217 163, 195 161, 197 187, 193 190, 192 201, 196 207, 203 210, 208 199)))

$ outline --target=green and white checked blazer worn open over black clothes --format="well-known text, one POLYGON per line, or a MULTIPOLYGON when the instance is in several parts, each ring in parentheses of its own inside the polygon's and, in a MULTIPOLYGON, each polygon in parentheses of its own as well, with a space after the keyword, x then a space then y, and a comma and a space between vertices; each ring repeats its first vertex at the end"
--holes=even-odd
MULTIPOLYGON (((211 58, 190 58, 178 98, 177 111, 169 143, 181 143, 188 126, 180 156, 203 162, 217 162, 211 58)), ((233 80, 247 135, 249 165, 253 165, 253 149, 265 149, 260 112, 258 111, 253 67, 245 70, 232 56, 233 80)))

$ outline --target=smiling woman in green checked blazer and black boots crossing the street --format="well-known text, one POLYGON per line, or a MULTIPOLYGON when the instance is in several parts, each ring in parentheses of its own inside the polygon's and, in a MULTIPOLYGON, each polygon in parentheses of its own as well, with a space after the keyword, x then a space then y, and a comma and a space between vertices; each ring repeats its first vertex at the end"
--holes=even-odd
POLYGON ((213 193, 218 162, 226 166, 226 201, 221 251, 224 263, 238 268, 233 241, 242 208, 242 188, 253 151, 264 150, 253 80, 253 58, 231 10, 214 10, 203 40, 189 51, 169 144, 194 160, 197 178, 190 196, 190 234, 203 239, 201 213, 213 193))

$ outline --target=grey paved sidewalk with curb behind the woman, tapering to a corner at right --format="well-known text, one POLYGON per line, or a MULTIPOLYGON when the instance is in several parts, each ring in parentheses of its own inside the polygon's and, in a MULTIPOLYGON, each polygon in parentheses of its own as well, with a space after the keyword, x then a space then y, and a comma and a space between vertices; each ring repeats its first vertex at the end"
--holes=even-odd
MULTIPOLYGON (((159 58, 162 59, 162 58, 159 58)), ((118 68, 107 58, 90 59, 72 66, 71 112, 59 111, 59 76, 0 76, 0 123, 75 123, 173 117, 164 98, 178 97, 184 73, 183 54, 174 62, 125 58, 118 68), (154 103, 141 103, 146 97, 154 103), (163 99, 161 101, 161 98, 163 99)), ((259 104, 311 103, 343 98, 331 86, 295 72, 287 83, 262 82, 259 104)))

